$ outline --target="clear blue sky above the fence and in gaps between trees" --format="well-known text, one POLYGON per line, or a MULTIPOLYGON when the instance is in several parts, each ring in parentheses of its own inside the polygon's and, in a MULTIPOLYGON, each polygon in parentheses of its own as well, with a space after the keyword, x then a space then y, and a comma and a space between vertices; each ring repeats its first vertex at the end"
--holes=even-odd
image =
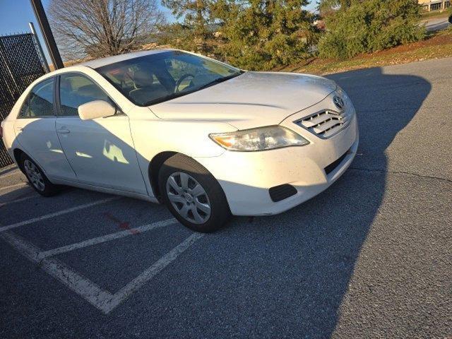
MULTIPOLYGON (((50 0, 42 0, 44 8, 47 8, 49 2, 50 0)), ((311 1, 308 8, 314 9, 316 7, 315 3, 316 1, 311 1)), ((174 20, 167 8, 162 8, 162 10, 165 12, 168 20, 174 20)), ((49 61, 49 54, 45 47, 44 40, 42 40, 40 27, 37 24, 30 0, 0 0, 0 35, 30 32, 30 27, 28 26, 28 22, 30 21, 35 24, 37 35, 42 44, 42 49, 44 49, 44 54, 46 54, 47 61, 49 61)))

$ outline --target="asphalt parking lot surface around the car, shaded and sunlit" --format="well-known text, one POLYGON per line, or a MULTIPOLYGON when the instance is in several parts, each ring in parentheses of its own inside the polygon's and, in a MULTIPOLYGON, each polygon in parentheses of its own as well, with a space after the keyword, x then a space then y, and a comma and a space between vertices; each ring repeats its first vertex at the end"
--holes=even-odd
POLYGON ((357 109, 350 169, 214 234, 0 169, 0 338, 452 337, 452 59, 330 77, 357 109))

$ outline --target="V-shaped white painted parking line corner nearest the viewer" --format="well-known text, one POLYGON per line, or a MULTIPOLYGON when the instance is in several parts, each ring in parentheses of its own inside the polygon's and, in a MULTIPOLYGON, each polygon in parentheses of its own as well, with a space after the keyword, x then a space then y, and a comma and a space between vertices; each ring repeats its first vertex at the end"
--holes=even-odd
POLYGON ((4 232, 0 234, 0 238, 4 239, 6 242, 11 244, 15 249, 17 249, 20 254, 28 258, 34 263, 39 263, 40 267, 57 278, 63 285, 66 285, 70 290, 81 295, 83 299, 88 301, 97 309, 100 309, 105 314, 111 312, 115 307, 117 307, 121 302, 130 297, 130 295, 142 287, 146 282, 155 277, 157 273, 167 267, 176 258, 182 254, 186 249, 189 248, 196 240, 201 239, 204 234, 194 233, 186 238, 179 245, 174 247, 165 256, 162 256, 157 260, 152 266, 144 270, 143 273, 138 275, 135 279, 131 280, 130 283, 125 285, 116 293, 111 293, 102 290, 99 285, 93 283, 91 280, 84 278, 75 271, 71 270, 68 266, 55 258, 43 258, 39 260, 40 249, 35 245, 27 242, 22 237, 19 237, 13 232, 4 232))

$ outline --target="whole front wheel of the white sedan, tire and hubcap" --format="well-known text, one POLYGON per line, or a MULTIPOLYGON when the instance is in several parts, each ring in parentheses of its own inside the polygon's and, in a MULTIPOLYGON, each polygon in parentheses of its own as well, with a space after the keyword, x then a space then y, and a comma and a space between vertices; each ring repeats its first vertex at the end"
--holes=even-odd
POLYGON ((162 197, 174 217, 196 232, 213 232, 230 218, 220 184, 201 164, 182 154, 166 160, 159 172, 162 197))

